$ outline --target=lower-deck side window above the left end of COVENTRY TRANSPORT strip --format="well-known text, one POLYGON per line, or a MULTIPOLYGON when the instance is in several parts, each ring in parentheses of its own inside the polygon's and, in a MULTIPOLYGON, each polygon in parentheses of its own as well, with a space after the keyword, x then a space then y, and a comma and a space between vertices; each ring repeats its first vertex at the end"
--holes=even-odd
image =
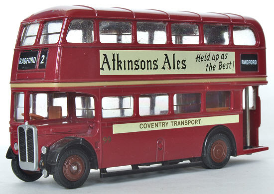
POLYGON ((133 115, 133 97, 103 97, 102 117, 127 117, 133 115))

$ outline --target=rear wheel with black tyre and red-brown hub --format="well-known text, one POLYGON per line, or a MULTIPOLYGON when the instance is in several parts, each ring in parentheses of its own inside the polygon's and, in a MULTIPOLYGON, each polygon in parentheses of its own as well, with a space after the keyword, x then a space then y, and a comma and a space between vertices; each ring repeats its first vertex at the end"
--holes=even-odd
POLYGON ((223 168, 231 156, 231 143, 228 137, 218 133, 211 137, 205 145, 202 155, 203 164, 210 169, 223 168))

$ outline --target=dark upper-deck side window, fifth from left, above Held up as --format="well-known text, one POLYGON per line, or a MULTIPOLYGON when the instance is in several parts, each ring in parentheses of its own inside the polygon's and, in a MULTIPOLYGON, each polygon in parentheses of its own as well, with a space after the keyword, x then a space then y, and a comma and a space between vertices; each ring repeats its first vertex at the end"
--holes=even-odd
POLYGON ((229 43, 228 25, 204 24, 204 42, 227 45, 229 43))

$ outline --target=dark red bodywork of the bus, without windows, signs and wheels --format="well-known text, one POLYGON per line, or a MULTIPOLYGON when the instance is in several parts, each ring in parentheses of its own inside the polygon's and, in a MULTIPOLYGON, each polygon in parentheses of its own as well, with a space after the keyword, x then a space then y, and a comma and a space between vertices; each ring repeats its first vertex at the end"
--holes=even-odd
MULTIPOLYGON (((41 29, 39 29, 41 34, 41 29)), ((168 32, 167 32, 168 33, 168 32)), ((40 35, 38 35, 39 37, 40 35)), ((13 65, 11 71, 11 83, 65 83, 65 82, 107 82, 107 81, 129 81, 129 80, 174 80, 174 79, 200 79, 200 78, 246 78, 246 77, 266 77, 266 50, 265 37, 260 24, 249 17, 242 17, 235 14, 220 13, 192 13, 187 11, 163 12, 159 10, 129 10, 124 8, 91 8, 87 6, 61 6, 53 7, 37 12, 23 20, 17 43, 14 50, 13 65), (64 25, 62 34, 57 44, 39 45, 39 40, 32 46, 19 46, 20 33, 23 24, 33 21, 44 22, 53 19, 63 19, 64 25), (94 43, 72 44, 65 40, 66 31, 71 18, 93 18, 95 23, 94 43), (223 23, 230 25, 230 34, 233 24, 251 26, 257 36, 255 46, 235 46, 233 41, 229 45, 205 45, 200 37, 199 45, 174 45, 170 38, 164 45, 138 44, 133 32, 134 41, 132 44, 103 44, 100 43, 98 23, 101 19, 117 19, 131 21, 134 28, 137 20, 157 20, 167 22, 169 29, 174 22, 195 22, 200 25, 202 34, 203 23, 223 23), (21 51, 42 50, 48 48, 47 67, 42 70, 17 70, 18 59, 21 51), (99 50, 100 49, 123 49, 123 50, 195 50, 195 51, 234 51, 236 60, 236 74, 207 74, 207 75, 138 75, 138 76, 100 76, 99 72, 99 50), (258 54, 259 71, 241 72, 240 54, 258 54)), ((95 98, 95 118, 79 119, 73 115, 73 101, 69 101, 69 115, 64 119, 55 120, 33 120, 29 124, 34 124, 38 129, 38 150, 42 146, 51 146, 53 143, 67 136, 79 136, 85 138, 96 151, 99 168, 122 166, 129 164, 152 163, 165 160, 175 160, 182 158, 200 157, 202 147, 207 133, 214 126, 188 127, 183 129, 170 129, 158 131, 146 131, 124 134, 113 134, 112 125, 130 122, 146 122, 154 120, 169 120, 176 118, 195 118, 215 115, 239 114, 239 123, 225 124, 233 133, 237 155, 248 154, 268 148, 254 148, 244 150, 244 116, 242 109, 242 91, 247 86, 257 86, 267 84, 261 82, 227 82, 227 83, 207 83, 207 84, 166 84, 166 85, 145 85, 126 87, 79 87, 79 88, 18 88, 12 89, 11 113, 10 113, 10 138, 11 147, 17 141, 17 123, 13 120, 13 105, 15 92, 24 92, 25 98, 32 91, 63 91, 90 94, 95 98), (223 112, 206 112, 205 96, 206 91, 231 91, 231 109, 223 112), (182 92, 201 92, 202 104, 201 112, 190 114, 174 114, 172 109, 173 95, 182 92), (140 94, 167 93, 169 94, 169 111, 167 115, 139 116, 137 107, 137 97, 140 94), (104 96, 134 96, 134 115, 130 118, 101 118, 101 99, 104 96), (103 142, 103 137, 111 137, 111 143, 103 142), (158 149, 162 146, 162 149, 158 149)), ((258 94, 257 94, 258 96, 258 94)), ((25 100, 25 112, 28 112, 28 100, 25 100)), ((260 98, 257 98, 257 109, 251 112, 251 118, 260 117, 260 98)), ((25 114, 27 115, 27 114, 25 114)), ((25 120, 29 120, 26 116, 25 120)), ((251 129, 252 145, 258 147, 258 127, 260 119, 252 119, 251 129)), ((13 152, 17 152, 13 149, 13 152)), ((39 154, 40 155, 40 154, 39 154)))

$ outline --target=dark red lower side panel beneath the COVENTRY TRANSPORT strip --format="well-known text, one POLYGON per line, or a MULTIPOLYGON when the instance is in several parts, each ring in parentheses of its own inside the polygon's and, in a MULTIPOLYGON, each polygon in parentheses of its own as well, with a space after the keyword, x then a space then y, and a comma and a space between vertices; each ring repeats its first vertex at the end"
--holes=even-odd
MULTIPOLYGON (((232 131, 237 150, 243 150, 242 125, 242 115, 238 123, 223 125, 232 131)), ((201 157, 206 135, 214 126, 113 134, 108 123, 102 127, 102 168, 201 157)))

